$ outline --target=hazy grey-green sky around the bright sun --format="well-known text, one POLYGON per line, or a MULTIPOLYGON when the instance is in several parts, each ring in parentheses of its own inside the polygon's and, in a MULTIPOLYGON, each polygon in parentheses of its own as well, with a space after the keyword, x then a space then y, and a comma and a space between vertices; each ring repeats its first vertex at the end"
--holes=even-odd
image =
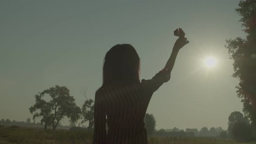
MULTIPOLYGON (((160 128, 227 128, 242 111, 225 39, 244 37, 239 0, 1 0, 0 118, 26 121, 34 95, 67 86, 76 103, 102 84, 102 62, 115 44, 129 43, 151 79, 171 54, 181 27, 190 43, 180 50, 171 80, 151 98, 160 128), (203 60, 213 56, 208 69, 203 60)), ((39 118, 36 119, 39 122, 39 118)), ((62 121, 62 124, 68 124, 62 121)), ((85 124, 88 125, 88 124, 85 124)))

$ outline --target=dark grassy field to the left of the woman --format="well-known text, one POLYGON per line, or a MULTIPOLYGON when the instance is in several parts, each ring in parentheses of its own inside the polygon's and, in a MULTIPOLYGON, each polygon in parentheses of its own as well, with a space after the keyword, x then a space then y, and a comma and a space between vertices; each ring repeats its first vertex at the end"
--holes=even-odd
POLYGON ((43 131, 34 128, 0 128, 0 144, 91 144, 93 134, 84 131, 57 130, 43 131), (5 142, 5 143, 4 143, 5 142), (8 143, 7 143, 8 144, 8 143))

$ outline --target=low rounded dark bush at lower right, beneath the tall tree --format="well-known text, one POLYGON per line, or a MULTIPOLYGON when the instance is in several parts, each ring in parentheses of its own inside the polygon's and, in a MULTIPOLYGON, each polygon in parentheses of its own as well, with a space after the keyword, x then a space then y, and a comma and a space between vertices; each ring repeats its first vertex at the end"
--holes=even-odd
POLYGON ((252 140, 252 130, 250 125, 243 121, 238 121, 233 125, 233 138, 238 142, 249 142, 252 140))

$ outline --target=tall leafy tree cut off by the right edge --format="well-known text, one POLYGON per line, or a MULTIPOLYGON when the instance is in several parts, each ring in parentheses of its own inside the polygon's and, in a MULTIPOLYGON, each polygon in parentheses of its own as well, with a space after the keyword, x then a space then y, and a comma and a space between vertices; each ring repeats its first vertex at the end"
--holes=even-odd
POLYGON ((245 27, 246 38, 226 40, 226 49, 233 59, 233 77, 240 80, 237 96, 243 103, 243 113, 248 117, 256 134, 256 1, 241 0, 235 10, 240 16, 240 22, 245 27))

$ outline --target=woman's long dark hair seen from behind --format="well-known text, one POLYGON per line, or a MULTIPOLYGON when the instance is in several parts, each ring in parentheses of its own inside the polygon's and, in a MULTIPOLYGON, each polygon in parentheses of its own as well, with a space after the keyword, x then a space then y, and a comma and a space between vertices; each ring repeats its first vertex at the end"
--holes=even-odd
POLYGON ((118 44, 107 53, 103 64, 102 87, 140 82, 140 58, 130 44, 118 44))

